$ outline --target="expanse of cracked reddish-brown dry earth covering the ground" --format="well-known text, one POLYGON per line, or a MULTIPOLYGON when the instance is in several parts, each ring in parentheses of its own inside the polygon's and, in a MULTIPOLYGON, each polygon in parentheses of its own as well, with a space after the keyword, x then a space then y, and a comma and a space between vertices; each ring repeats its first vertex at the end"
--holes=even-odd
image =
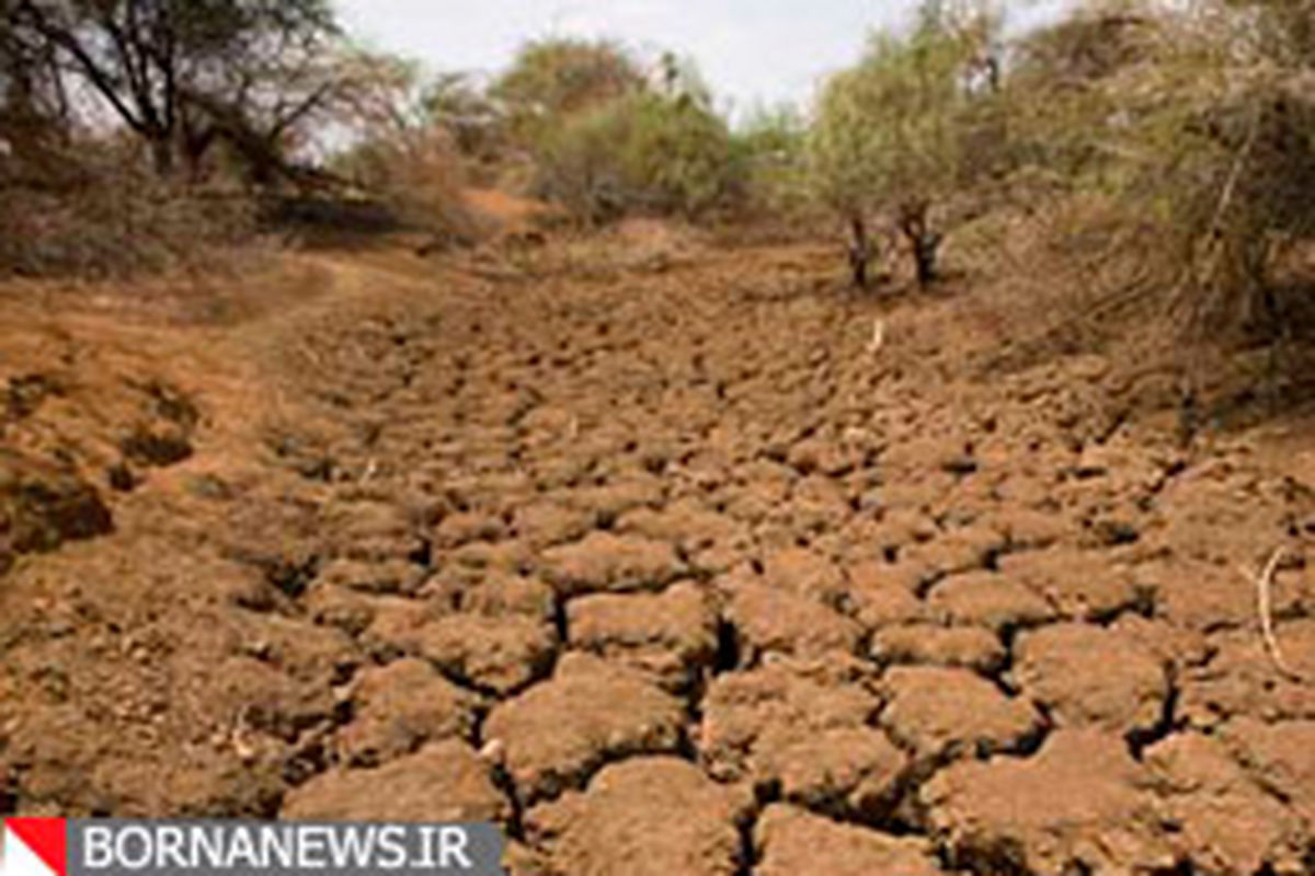
POLYGON ((1181 450, 1099 357, 974 372, 953 299, 873 353, 828 269, 321 257, 179 328, 195 452, 0 579, 0 805, 493 820, 515 876, 1315 868, 1248 578, 1286 546, 1315 678, 1306 457, 1181 450))

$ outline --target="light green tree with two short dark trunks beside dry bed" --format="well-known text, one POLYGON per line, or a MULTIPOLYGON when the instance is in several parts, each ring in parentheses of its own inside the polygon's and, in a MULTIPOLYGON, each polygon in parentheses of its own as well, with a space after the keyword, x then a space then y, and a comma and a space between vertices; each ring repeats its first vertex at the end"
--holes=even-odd
MULTIPOLYGON (((868 285, 871 215, 888 210, 907 240, 918 282, 936 277, 942 232, 932 208, 964 183, 967 110, 982 85, 982 34, 922 8, 907 37, 878 33, 865 56, 822 92, 809 137, 810 171, 821 200, 849 225, 856 285, 868 285)), ((988 68, 994 88, 997 67, 988 68)))

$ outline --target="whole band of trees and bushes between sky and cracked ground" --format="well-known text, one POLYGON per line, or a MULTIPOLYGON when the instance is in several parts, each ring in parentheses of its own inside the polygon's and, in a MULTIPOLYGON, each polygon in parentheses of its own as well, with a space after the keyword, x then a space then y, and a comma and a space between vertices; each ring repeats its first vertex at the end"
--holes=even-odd
POLYGON ((346 47, 322 0, 4 0, 0 257, 25 273, 112 253, 154 267, 188 248, 166 229, 237 239, 239 196, 308 185, 350 184, 462 240, 473 184, 586 226, 807 229, 825 210, 855 285, 898 252, 927 285, 956 227, 1022 206, 1064 217, 1045 232, 1056 252, 1081 242, 1086 260, 1135 265, 1093 313, 1155 303, 1197 336, 1291 336, 1307 310, 1294 253, 1315 231, 1311 17, 1304 0, 1102 0, 1006 41, 1002 8, 928 0, 810 112, 732 125, 690 63, 606 39, 531 41, 488 79, 430 76, 346 47), (88 123, 107 112, 117 130, 88 123), (329 127, 346 148, 325 162, 309 147, 329 127), (174 219, 150 219, 164 204, 174 219))

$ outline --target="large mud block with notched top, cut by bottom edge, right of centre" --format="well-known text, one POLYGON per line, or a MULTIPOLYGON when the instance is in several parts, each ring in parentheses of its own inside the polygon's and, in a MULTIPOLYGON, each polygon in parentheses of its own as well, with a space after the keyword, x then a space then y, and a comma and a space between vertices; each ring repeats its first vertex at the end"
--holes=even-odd
POLYGON ((1060 730, 1032 758, 964 760, 919 792, 951 864, 1065 876, 1170 872, 1149 776, 1116 735, 1060 730))

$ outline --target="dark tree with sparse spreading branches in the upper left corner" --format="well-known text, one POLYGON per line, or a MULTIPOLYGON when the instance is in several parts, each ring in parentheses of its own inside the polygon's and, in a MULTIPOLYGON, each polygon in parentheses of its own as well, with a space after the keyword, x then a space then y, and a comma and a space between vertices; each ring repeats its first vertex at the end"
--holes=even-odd
POLYGON ((5 0, 0 9, 22 45, 149 146, 160 176, 179 159, 199 167, 224 138, 267 163, 268 147, 333 91, 327 0, 5 0))

